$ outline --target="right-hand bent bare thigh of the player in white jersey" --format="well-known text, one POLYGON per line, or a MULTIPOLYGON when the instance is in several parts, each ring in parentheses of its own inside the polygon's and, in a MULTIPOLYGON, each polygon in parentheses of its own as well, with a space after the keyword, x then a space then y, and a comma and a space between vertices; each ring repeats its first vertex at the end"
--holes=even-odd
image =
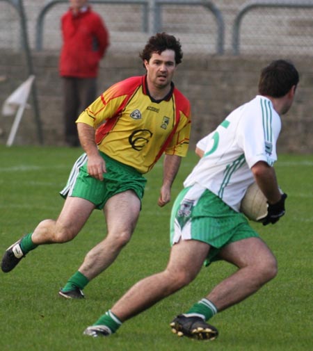
POLYGON ((257 237, 234 241, 223 247, 218 256, 239 268, 277 265, 273 252, 262 238, 257 237))

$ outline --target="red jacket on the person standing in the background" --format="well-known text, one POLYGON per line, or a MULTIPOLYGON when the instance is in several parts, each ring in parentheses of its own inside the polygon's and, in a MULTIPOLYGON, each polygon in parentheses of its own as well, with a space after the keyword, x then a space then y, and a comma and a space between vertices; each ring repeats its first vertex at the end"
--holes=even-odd
POLYGON ((99 60, 109 47, 109 33, 102 18, 90 6, 77 15, 69 9, 61 18, 61 29, 60 75, 96 77, 99 60))

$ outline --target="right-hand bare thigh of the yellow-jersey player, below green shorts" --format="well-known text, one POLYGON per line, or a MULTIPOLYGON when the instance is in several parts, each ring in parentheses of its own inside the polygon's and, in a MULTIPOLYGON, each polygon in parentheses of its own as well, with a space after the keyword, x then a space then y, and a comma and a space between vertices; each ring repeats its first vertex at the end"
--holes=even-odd
POLYGON ((104 206, 109 234, 116 232, 132 234, 140 211, 141 200, 133 190, 123 191, 110 197, 104 206))

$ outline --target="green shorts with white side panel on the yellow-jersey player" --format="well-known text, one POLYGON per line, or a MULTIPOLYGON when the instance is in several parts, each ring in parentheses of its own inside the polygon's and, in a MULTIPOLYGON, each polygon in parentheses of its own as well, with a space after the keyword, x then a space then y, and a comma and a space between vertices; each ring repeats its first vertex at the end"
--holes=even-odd
POLYGON ((82 154, 74 163, 67 184, 60 194, 63 197, 73 196, 87 199, 95 204, 96 209, 103 209, 106 201, 118 193, 134 190, 141 200, 147 179, 129 165, 124 165, 113 158, 99 153, 106 162, 104 180, 99 181, 87 172, 87 155, 82 154))

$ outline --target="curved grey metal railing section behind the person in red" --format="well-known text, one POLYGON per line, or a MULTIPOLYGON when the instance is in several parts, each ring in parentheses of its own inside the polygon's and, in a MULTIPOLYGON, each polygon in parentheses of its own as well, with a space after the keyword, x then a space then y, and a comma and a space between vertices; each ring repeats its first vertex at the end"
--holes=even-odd
MULTIPOLYGON (((50 0, 43 8, 40 10, 38 15, 38 19, 36 21, 36 28, 35 28, 35 49, 38 51, 42 50, 42 33, 43 27, 45 22, 45 16, 58 3, 68 3, 68 0, 50 0)), ((143 6, 143 13, 142 13, 142 31, 143 33, 147 33, 148 31, 148 13, 149 13, 149 0, 89 0, 89 3, 106 3, 111 5, 129 5, 134 3, 136 5, 143 6)))

